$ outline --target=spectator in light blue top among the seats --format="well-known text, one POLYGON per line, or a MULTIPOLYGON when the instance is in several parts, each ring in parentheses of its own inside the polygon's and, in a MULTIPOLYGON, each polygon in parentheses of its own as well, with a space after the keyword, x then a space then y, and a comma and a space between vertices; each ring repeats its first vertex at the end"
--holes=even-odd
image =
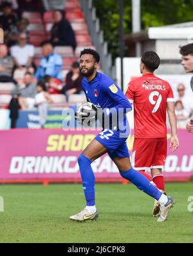
POLYGON ((62 57, 53 53, 53 46, 50 42, 42 43, 42 55, 39 67, 35 72, 35 78, 41 81, 44 76, 49 75, 62 81, 62 57))

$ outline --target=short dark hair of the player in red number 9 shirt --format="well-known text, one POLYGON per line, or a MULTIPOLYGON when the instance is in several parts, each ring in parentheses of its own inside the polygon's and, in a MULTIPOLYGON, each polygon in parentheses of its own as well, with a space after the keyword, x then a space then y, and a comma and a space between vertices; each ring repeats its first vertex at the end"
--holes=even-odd
POLYGON ((158 69, 160 66, 160 57, 152 50, 145 52, 141 60, 145 67, 151 72, 154 72, 154 70, 158 69))

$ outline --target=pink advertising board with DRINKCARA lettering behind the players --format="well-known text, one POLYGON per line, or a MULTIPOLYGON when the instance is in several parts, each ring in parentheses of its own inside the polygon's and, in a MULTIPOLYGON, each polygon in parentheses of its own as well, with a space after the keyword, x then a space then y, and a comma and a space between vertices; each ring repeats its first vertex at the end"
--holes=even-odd
MULTIPOLYGON (((61 129, 1 131, 0 183, 81 182, 77 158, 97 133, 91 130, 61 129)), ((179 130, 178 135, 180 147, 175 153, 170 153, 168 143, 163 174, 169 182, 188 181, 193 176, 192 134, 179 130)), ((130 152, 133 140, 131 134, 127 140, 130 152)), ((102 156, 92 165, 96 182, 125 183, 108 155, 102 156)))

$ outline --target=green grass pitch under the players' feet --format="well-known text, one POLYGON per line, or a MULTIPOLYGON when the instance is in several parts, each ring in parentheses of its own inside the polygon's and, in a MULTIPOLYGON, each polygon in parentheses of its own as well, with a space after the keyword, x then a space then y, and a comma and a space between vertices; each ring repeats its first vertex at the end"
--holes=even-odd
POLYGON ((175 198, 169 220, 151 216, 154 199, 131 184, 96 184, 99 218, 71 222, 85 206, 80 184, 3 185, 0 242, 193 242, 193 183, 166 184, 175 198))

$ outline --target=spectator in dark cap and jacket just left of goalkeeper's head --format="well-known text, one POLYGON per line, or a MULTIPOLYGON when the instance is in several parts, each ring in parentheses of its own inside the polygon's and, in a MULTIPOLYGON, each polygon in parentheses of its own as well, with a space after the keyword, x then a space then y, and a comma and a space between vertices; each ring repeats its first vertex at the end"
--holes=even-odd
POLYGON ((71 66, 71 71, 66 75, 66 85, 64 86, 64 94, 68 97, 71 94, 80 94, 82 92, 82 79, 80 75, 80 65, 76 61, 71 66))

